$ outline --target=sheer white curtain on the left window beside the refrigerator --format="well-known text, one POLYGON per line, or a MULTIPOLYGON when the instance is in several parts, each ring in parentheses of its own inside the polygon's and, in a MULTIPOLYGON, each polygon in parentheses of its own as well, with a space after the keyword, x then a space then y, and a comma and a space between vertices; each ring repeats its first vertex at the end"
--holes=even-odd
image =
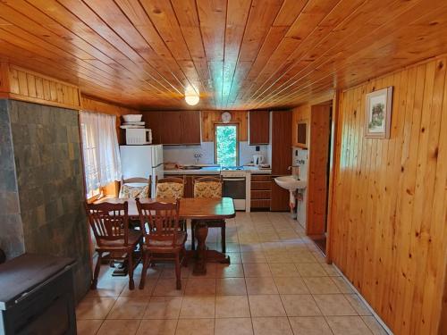
POLYGON ((116 117, 80 112, 87 196, 114 180, 121 180, 121 159, 116 136, 116 117))

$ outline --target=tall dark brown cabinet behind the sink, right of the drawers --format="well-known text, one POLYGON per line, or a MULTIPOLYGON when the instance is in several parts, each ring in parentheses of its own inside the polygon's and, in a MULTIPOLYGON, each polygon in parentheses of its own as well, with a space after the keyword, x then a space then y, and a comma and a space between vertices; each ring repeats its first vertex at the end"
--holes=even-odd
MULTIPOLYGON (((272 112, 272 178, 291 174, 291 112, 272 112)), ((271 211, 289 210, 289 191, 273 180, 271 211)))

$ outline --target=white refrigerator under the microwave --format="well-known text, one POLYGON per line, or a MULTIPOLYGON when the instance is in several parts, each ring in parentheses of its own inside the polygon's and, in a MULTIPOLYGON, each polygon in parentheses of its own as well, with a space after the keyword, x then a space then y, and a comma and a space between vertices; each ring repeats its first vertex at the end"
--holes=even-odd
POLYGON ((152 193, 156 194, 156 178, 163 178, 163 146, 120 146, 124 179, 152 176, 152 193))

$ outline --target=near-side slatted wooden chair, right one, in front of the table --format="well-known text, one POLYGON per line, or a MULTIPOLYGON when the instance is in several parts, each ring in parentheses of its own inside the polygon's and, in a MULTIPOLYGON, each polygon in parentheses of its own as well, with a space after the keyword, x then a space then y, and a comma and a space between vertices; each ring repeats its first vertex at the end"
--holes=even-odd
POLYGON ((140 203, 136 200, 144 235, 143 271, 139 289, 144 289, 149 264, 171 260, 175 263, 176 287, 181 289, 181 264, 187 266, 186 231, 179 229, 180 200, 175 203, 140 203))

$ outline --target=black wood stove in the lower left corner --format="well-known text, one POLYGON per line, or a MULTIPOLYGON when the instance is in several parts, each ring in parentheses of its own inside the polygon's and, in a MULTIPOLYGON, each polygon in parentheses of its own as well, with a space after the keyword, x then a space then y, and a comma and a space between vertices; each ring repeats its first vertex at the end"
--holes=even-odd
POLYGON ((0 334, 76 334, 73 264, 33 254, 0 264, 0 334))

